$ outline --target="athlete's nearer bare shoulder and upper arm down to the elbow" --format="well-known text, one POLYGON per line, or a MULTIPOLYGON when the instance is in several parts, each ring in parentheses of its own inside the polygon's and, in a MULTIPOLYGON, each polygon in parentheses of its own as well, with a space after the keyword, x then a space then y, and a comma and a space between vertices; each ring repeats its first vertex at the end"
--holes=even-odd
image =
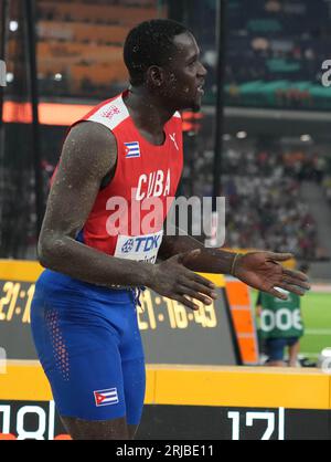
POLYGON ((52 241, 54 235, 62 239, 77 234, 93 208, 103 178, 115 168, 116 160, 116 140, 108 128, 93 122, 72 128, 47 200, 41 253, 44 242, 52 241))

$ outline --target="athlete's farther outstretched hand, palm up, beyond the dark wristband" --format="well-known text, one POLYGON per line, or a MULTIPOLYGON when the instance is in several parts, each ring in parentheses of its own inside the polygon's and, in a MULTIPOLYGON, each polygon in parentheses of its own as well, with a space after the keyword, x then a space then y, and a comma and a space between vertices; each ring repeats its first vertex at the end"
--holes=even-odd
POLYGON ((237 256, 234 276, 280 300, 287 300, 287 295, 275 287, 305 295, 310 288, 307 275, 299 271, 287 270, 278 263, 292 258, 290 253, 248 252, 237 256))

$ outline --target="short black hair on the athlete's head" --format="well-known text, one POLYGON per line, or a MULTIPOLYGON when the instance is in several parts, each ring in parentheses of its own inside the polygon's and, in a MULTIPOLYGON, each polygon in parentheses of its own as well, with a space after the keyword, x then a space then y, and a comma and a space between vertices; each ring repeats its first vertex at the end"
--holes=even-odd
POLYGON ((152 19, 134 28, 124 45, 124 61, 131 85, 142 85, 146 72, 152 65, 162 66, 175 52, 173 39, 191 31, 170 19, 152 19))

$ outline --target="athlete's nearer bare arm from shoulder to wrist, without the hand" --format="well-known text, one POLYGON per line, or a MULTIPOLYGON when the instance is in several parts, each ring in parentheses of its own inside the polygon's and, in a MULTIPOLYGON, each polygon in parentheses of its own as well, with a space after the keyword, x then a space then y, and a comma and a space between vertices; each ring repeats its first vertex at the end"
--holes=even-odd
POLYGON ((151 265, 115 259, 75 240, 116 160, 116 140, 106 127, 82 123, 71 130, 39 240, 43 266, 98 285, 147 285, 151 265))

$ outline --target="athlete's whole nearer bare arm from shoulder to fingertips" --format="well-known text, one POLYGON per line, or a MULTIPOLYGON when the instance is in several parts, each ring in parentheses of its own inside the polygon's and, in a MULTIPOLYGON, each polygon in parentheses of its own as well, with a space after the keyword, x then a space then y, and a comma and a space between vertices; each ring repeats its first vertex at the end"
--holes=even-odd
MULTIPOLYGON (((175 255, 160 264, 118 259, 75 240, 94 206, 103 178, 115 170, 117 146, 107 128, 95 123, 74 127, 63 147, 39 240, 43 266, 92 284, 146 285, 197 309, 188 296, 211 303, 214 285, 175 255)), ((194 252, 193 252, 194 255, 194 252)))

